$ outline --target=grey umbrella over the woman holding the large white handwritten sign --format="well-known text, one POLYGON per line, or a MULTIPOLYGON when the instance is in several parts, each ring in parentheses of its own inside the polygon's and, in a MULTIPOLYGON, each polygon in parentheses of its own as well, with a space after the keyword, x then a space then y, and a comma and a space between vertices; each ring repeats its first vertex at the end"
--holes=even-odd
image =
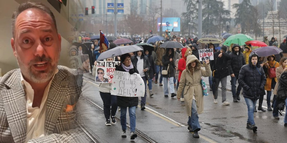
POLYGON ((137 45, 117 46, 113 49, 102 52, 97 60, 104 60, 110 57, 115 57, 115 56, 123 55, 126 53, 136 52, 136 51, 141 51, 141 50, 143 49, 141 49, 141 47, 137 45))

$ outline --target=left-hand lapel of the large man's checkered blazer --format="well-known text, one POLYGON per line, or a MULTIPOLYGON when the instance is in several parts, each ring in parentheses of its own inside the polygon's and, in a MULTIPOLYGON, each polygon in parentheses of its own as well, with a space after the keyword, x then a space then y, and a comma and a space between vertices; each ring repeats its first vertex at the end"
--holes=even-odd
POLYGON ((25 142, 27 134, 27 107, 24 86, 20 83, 20 69, 5 82, 7 90, 0 91, 7 121, 14 142, 25 142))

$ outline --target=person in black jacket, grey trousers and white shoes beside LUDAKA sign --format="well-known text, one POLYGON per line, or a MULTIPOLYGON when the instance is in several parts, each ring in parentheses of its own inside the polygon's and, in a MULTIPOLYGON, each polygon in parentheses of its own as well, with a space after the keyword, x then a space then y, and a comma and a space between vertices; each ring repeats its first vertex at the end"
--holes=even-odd
POLYGON ((226 101, 226 83, 227 76, 230 75, 228 70, 228 60, 230 60, 230 56, 226 53, 227 47, 222 46, 219 52, 214 53, 214 60, 210 61, 210 66, 213 71, 213 95, 214 95, 214 103, 217 103, 218 96, 218 86, 219 82, 221 82, 221 94, 222 94, 222 104, 229 105, 226 101))

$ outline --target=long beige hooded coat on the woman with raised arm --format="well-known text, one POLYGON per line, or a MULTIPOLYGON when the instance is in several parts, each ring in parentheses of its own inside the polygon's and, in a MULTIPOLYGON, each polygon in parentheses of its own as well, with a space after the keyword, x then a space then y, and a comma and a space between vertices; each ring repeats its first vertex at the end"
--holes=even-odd
POLYGON ((187 111, 187 115, 191 116, 191 107, 193 96, 196 100, 197 113, 203 113, 204 102, 203 102, 203 91, 201 86, 201 76, 211 76, 210 64, 205 66, 205 69, 201 68, 201 63, 195 55, 187 56, 186 69, 182 71, 180 82, 177 91, 177 98, 181 98, 183 92, 184 103, 187 111), (196 62, 196 67, 191 74, 188 69, 188 65, 192 62, 196 62))

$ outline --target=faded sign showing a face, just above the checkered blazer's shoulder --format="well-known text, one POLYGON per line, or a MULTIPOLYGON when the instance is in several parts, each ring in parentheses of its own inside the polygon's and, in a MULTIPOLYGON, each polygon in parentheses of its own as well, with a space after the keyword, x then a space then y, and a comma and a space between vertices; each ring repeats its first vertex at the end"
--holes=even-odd
POLYGON ((70 57, 71 69, 77 69, 77 74, 90 72, 89 55, 78 55, 70 57))

